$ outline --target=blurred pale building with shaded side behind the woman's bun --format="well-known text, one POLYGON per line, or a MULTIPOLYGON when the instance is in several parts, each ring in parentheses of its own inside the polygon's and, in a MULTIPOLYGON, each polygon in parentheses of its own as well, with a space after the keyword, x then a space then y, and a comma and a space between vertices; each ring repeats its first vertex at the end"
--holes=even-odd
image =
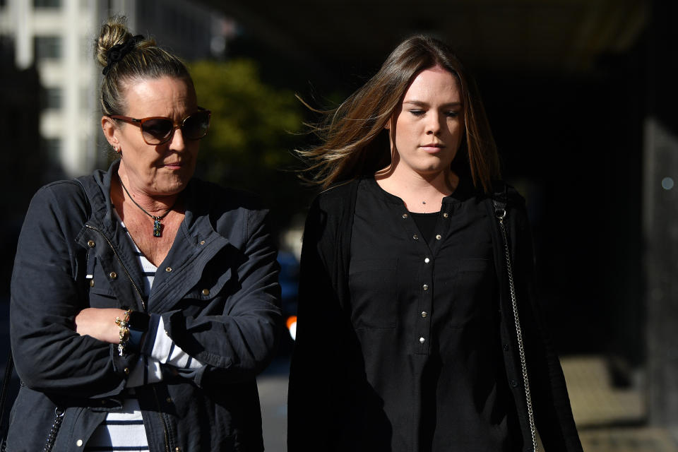
POLYGON ((133 32, 153 35, 184 59, 223 57, 234 30, 221 13, 188 0, 0 0, 0 37, 13 46, 18 70, 35 66, 42 85, 40 147, 66 176, 107 160, 93 39, 114 15, 127 16, 133 32))

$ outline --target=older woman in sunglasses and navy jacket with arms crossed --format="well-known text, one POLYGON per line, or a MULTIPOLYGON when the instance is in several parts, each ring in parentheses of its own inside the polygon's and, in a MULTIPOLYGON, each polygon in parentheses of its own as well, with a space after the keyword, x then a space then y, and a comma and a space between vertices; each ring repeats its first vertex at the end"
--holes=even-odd
POLYGON ((11 451, 262 451, 278 266, 256 200, 193 178, 210 112, 177 57, 109 20, 107 172, 44 186, 20 234, 11 451))

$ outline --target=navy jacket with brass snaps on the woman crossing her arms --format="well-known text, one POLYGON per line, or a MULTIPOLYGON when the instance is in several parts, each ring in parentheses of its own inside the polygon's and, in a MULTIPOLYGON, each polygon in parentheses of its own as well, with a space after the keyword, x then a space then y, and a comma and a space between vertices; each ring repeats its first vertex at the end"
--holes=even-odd
POLYGON ((282 323, 266 211, 242 192, 192 179, 166 270, 143 299, 138 258, 112 212, 116 174, 117 162, 108 172, 44 186, 30 203, 11 285, 22 385, 7 450, 42 450, 57 408, 65 411, 53 451, 81 450, 121 405, 138 355, 120 357, 116 345, 73 331, 81 309, 117 307, 162 315, 169 337, 207 364, 136 388, 150 451, 263 451, 255 376, 282 323))

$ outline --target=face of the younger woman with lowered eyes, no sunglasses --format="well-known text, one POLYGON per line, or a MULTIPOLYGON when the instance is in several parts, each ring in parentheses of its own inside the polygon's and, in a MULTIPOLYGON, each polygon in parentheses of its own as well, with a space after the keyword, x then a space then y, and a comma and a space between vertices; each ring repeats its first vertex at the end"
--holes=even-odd
POLYGON ((439 66, 418 73, 390 127, 391 148, 395 145, 398 153, 396 171, 421 176, 447 172, 465 131, 457 79, 439 66))

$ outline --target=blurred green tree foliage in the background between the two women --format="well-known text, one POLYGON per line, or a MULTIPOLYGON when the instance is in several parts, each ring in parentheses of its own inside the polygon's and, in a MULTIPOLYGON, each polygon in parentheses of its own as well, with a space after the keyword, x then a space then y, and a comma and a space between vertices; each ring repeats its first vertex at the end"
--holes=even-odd
POLYGON ((254 191, 273 208, 274 227, 283 227, 307 203, 293 170, 302 105, 290 90, 263 83, 251 60, 198 61, 190 71, 199 105, 212 111, 198 176, 254 191))

